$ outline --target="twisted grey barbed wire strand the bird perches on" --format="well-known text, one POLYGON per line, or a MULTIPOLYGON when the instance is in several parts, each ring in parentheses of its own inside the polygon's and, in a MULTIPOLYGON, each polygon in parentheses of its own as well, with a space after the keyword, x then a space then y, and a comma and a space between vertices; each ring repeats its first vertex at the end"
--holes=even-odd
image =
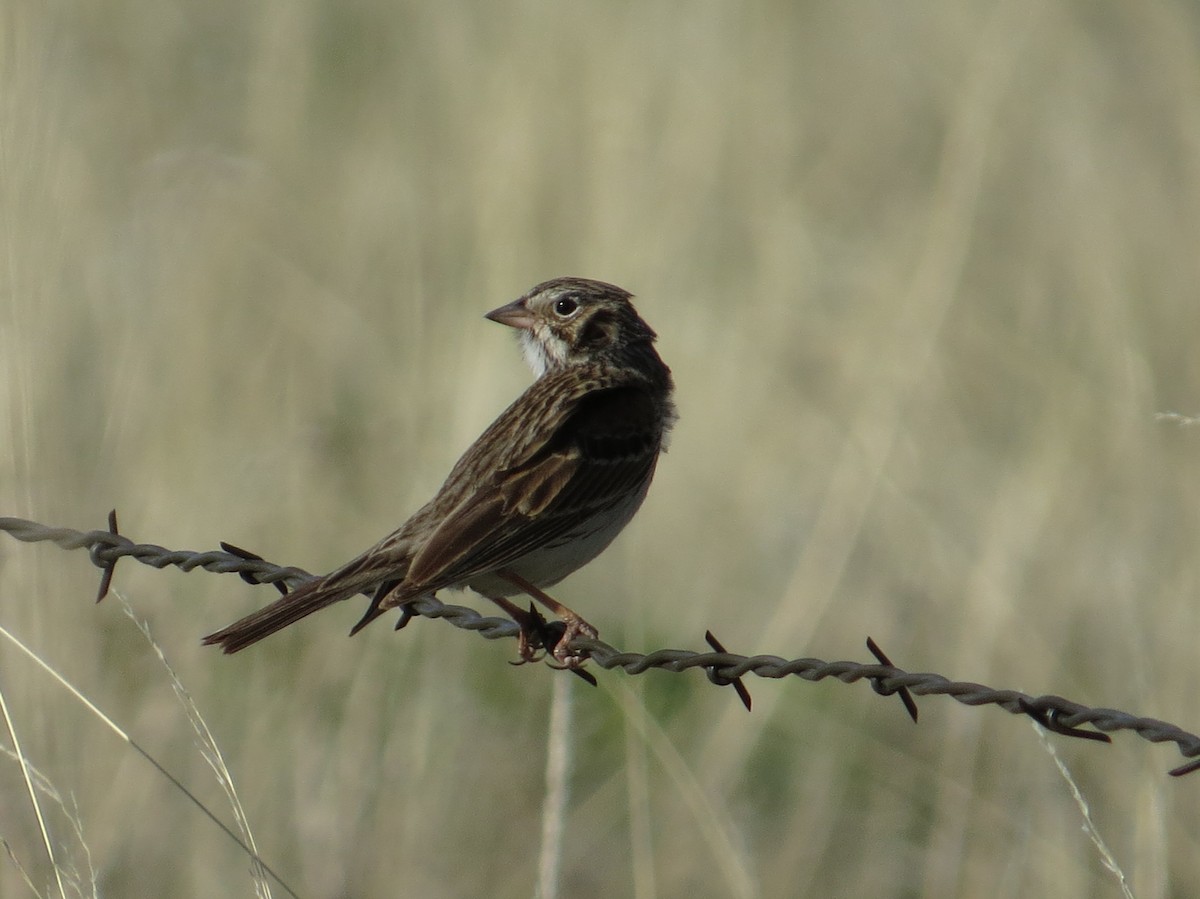
MULTIPOLYGON (((131 557, 154 568, 175 567, 184 571, 204 569, 218 574, 236 574, 250 583, 275 585, 281 593, 296 587, 314 575, 301 568, 276 565, 251 552, 228 544, 222 544, 221 551, 193 552, 190 550, 169 550, 155 544, 136 544, 118 533, 116 515, 109 514, 107 531, 74 531, 40 525, 25 519, 0 517, 0 531, 24 543, 49 541, 64 550, 86 549, 91 561, 103 571, 100 593, 96 601, 104 598, 113 579, 116 562, 131 557)), ((520 627, 508 618, 487 617, 467 606, 443 603, 433 597, 424 597, 407 605, 397 623, 397 629, 408 623, 413 616, 440 618, 456 628, 473 630, 488 640, 516 637, 520 627)), ((548 628, 553 629, 554 623, 548 628)), ((1006 712, 1032 718, 1046 730, 1068 737, 1079 737, 1098 742, 1110 742, 1109 733, 1132 731, 1151 743, 1175 743, 1180 753, 1192 761, 1172 768, 1172 777, 1181 777, 1200 769, 1200 736, 1189 733, 1181 727, 1154 718, 1121 712, 1114 708, 1093 708, 1080 702, 1055 695, 1033 696, 1019 690, 997 690, 984 684, 965 681, 952 681, 942 675, 930 672, 912 672, 892 665, 883 653, 868 640, 868 646, 875 654, 876 663, 824 661, 821 659, 784 659, 778 655, 739 655, 726 652, 712 636, 706 635, 714 652, 694 652, 691 649, 658 649, 650 653, 631 653, 594 639, 576 637, 571 641, 572 653, 589 659, 605 670, 620 669, 626 675, 641 675, 652 669, 662 671, 703 670, 710 681, 719 685, 733 685, 749 708, 749 695, 742 688, 742 678, 755 675, 763 678, 799 677, 804 681, 823 681, 836 678, 842 683, 868 681, 876 693, 890 696, 949 696, 965 706, 997 706, 1006 712), (1088 730, 1094 729, 1094 730, 1088 730)), ((586 679, 594 683, 587 672, 572 669, 586 679)), ((906 707, 916 720, 916 706, 906 700, 906 707)))

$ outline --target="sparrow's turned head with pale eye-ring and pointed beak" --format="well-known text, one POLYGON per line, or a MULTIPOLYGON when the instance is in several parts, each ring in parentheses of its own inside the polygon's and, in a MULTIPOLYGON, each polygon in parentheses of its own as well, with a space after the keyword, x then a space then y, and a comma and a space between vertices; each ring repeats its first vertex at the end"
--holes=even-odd
POLYGON ((541 377, 568 365, 638 353, 653 343, 656 335, 638 318, 631 298, 602 281, 556 277, 487 317, 521 330, 526 361, 541 377))

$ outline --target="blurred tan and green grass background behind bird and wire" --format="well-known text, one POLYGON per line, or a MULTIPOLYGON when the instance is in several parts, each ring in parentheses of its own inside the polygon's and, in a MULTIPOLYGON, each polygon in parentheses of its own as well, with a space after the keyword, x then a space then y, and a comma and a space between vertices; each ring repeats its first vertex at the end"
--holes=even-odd
MULTIPOLYGON (((326 570, 528 383, 485 311, 634 290, 682 420, 557 594, 631 649, 865 659, 1195 730, 1200 10, 169 0, 0 7, 0 514, 326 570)), ((121 565, 305 897, 526 897, 550 685, 347 605, 121 565)), ((0 539, 0 622, 228 817, 83 553, 0 539)), ((460 601, 450 595, 448 599, 460 601)), ((463 601, 473 601, 470 598, 463 601)), ((572 684, 572 897, 1121 895, 1030 726, 840 684, 572 684)), ((239 851, 8 647, 106 895, 239 851)), ((7 744, 8 741, 5 739, 7 744)), ((1056 738, 1139 897, 1200 882, 1171 747, 1056 738)), ((16 763, 0 837, 50 870, 16 763)), ((25 894, 0 863, 0 894, 25 894)), ((278 892, 277 892, 278 894, 278 892)))

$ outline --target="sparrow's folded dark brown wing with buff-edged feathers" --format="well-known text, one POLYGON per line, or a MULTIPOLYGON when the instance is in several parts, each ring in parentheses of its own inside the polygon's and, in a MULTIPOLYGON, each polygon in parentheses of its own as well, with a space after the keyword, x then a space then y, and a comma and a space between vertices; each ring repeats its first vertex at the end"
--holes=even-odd
POLYGON ((404 594, 462 583, 588 531, 653 475, 661 414, 641 385, 594 390, 547 437, 442 520, 413 558, 404 594))

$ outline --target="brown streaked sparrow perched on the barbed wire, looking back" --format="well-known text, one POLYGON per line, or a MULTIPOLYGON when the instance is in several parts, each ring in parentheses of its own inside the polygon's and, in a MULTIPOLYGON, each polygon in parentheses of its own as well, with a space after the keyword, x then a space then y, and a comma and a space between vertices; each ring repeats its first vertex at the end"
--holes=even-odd
POLYGON ((536 380, 480 434, 437 496, 337 570, 204 637, 235 653, 328 605, 372 594, 350 634, 444 587, 470 587, 522 625, 524 593, 562 618, 553 647, 595 629, 541 592, 604 551, 637 511, 676 420, 671 370, 655 334, 613 284, 560 277, 487 313, 518 329, 536 380))

